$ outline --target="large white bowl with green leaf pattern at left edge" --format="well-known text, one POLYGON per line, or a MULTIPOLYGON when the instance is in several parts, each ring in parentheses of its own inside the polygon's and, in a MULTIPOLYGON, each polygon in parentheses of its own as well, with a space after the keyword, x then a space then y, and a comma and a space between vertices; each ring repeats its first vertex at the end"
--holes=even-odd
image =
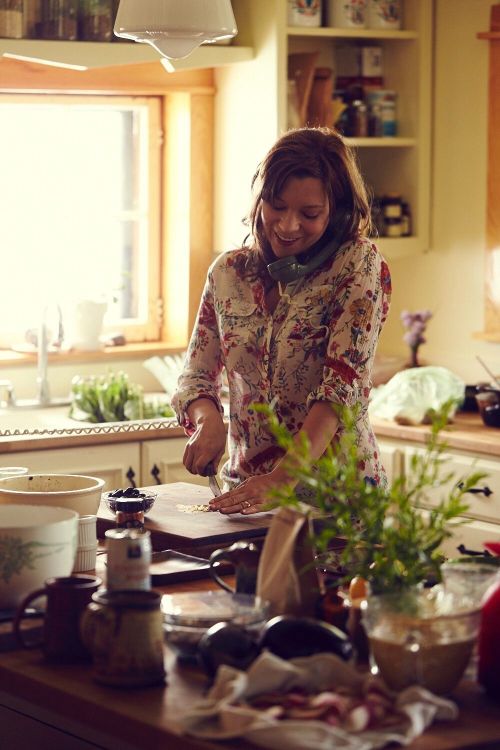
POLYGON ((52 576, 69 576, 78 513, 47 505, 0 505, 0 609, 17 607, 52 576))

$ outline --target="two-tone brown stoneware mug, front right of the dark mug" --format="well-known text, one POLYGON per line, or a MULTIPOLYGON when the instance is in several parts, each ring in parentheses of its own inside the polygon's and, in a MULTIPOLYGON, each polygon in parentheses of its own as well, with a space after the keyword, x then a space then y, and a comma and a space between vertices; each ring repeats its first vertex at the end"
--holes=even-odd
POLYGON ((93 595, 81 635, 94 663, 94 679, 134 688, 165 681, 161 594, 140 589, 93 595))

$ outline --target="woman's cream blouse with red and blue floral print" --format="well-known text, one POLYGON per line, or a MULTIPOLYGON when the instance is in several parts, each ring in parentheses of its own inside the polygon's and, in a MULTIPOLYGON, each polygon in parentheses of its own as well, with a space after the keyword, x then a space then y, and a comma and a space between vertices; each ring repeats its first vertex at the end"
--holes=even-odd
POLYGON ((367 481, 385 482, 367 407, 375 349, 389 309, 386 262, 367 239, 346 243, 316 271, 288 284, 270 312, 262 281, 241 278, 237 271, 238 253, 249 252, 255 251, 223 253, 209 269, 172 402, 179 423, 188 433, 194 429, 186 408, 199 397, 211 398, 223 411, 225 369, 230 458, 221 476, 230 489, 271 471, 282 456, 253 403, 271 405, 294 434, 315 401, 360 404, 360 470, 367 481))

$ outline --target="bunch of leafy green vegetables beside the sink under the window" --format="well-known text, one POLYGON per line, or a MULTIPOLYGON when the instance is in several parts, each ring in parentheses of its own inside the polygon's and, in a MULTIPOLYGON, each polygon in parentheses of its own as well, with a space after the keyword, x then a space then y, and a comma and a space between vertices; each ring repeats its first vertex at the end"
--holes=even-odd
POLYGON ((147 401, 142 386, 131 383, 124 372, 74 378, 70 417, 86 422, 124 422, 130 419, 172 417, 163 401, 147 401))

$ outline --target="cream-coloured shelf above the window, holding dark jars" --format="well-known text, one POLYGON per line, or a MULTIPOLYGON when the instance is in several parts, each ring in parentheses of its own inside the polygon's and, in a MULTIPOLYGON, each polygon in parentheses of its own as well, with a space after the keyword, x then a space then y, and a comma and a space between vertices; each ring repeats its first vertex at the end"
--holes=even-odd
MULTIPOLYGON (((159 53, 138 42, 66 42, 46 39, 0 39, 0 55, 76 69, 155 62, 159 53)), ((174 70, 216 68, 254 57, 252 47, 202 45, 183 60, 170 61, 174 70)))

